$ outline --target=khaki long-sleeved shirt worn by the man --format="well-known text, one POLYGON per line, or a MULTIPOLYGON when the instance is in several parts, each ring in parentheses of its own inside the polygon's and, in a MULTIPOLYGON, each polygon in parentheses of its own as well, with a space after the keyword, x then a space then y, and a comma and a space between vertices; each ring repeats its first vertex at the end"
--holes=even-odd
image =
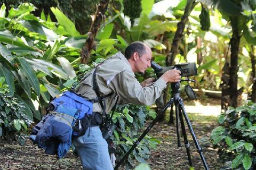
MULTIPOLYGON (((78 94, 87 99, 97 97, 92 89, 93 72, 94 69, 86 74, 81 85, 76 89, 78 94)), ((151 105, 161 95, 162 90, 166 88, 166 82, 162 78, 146 87, 142 87, 135 78, 130 63, 120 52, 109 57, 98 66, 96 80, 101 96, 114 92, 110 98, 106 99, 106 113, 109 113, 115 105, 117 96, 119 96, 118 104, 151 105)), ((93 112, 102 112, 99 103, 93 104, 93 112)))

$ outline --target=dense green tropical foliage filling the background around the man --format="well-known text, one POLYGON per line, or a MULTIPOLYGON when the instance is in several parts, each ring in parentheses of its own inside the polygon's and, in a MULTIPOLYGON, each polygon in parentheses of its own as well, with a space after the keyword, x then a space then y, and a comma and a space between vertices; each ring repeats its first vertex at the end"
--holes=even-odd
MULTIPOLYGON (((51 98, 81 79, 95 64, 140 40, 151 47, 154 61, 163 66, 196 62, 198 75, 193 79, 197 83, 192 86, 202 91, 221 91, 222 108, 236 108, 223 113, 225 120, 223 115, 220 117, 224 126, 216 130, 218 133, 213 132, 213 143, 226 148, 223 152, 228 154, 224 155, 233 160, 233 167, 253 168, 255 142, 241 135, 253 132, 254 124, 250 110, 254 105, 243 103, 242 96, 256 101, 256 2, 104 1, 108 2, 107 10, 101 13, 102 22, 95 23, 90 15, 95 15, 100 2, 103 1, 0 1, 0 101, 8 98, 12 103, 1 102, 1 136, 22 143, 20 131, 41 119, 51 98), (92 36, 87 32, 93 24, 98 24, 99 30, 94 35, 89 60, 81 64, 81 49, 92 36), (241 105, 245 110, 250 108, 250 112, 242 111, 238 107, 241 105), (230 122, 235 126, 225 126, 230 122), (230 136, 233 132, 237 136, 230 136), (222 145, 224 140, 226 144, 222 145)), ((154 76, 152 69, 137 75, 139 81, 154 76)), ((170 97, 170 89, 164 97, 170 97)), ((141 106, 124 106, 115 112, 115 142, 120 154, 138 137, 147 116, 154 117, 155 113, 141 106)), ((133 164, 133 157, 139 162, 147 159, 148 146, 154 147, 158 142, 147 137, 134 150, 127 167, 133 164)))

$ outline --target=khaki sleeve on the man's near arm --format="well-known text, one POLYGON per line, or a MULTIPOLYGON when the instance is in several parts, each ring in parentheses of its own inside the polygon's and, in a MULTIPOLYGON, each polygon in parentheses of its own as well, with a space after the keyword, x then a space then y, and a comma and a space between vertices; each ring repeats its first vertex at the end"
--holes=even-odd
POLYGON ((109 83, 109 87, 125 103, 151 105, 161 95, 163 89, 166 88, 166 82, 159 78, 156 82, 142 87, 133 72, 124 70, 115 76, 109 83))

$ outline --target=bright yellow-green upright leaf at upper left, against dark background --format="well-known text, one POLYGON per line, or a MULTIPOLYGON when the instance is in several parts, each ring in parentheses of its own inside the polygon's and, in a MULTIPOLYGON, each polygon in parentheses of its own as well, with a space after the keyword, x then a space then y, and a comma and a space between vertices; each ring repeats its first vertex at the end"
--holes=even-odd
POLYGON ((67 18, 57 7, 51 7, 52 13, 55 15, 58 23, 65 28, 65 31, 72 37, 79 36, 79 32, 76 30, 75 24, 67 18))

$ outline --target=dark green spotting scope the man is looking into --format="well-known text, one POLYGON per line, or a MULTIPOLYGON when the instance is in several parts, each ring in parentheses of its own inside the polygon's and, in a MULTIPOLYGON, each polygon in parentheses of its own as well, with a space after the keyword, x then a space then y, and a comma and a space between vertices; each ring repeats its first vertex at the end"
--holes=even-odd
POLYGON ((157 77, 161 77, 166 71, 176 68, 181 72, 181 77, 190 77, 197 74, 196 63, 181 63, 174 66, 162 67, 151 61, 151 67, 155 70, 157 77))

